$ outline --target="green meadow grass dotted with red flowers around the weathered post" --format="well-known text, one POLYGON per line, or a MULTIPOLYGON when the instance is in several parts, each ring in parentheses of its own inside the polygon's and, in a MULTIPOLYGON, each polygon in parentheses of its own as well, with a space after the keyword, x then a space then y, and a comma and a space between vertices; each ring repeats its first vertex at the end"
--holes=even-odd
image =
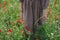
MULTIPOLYGON (((49 40, 60 40, 60 2, 58 0, 56 6, 53 5, 54 2, 55 0, 50 0, 51 11, 48 13, 48 20, 43 23, 43 29, 38 30, 37 34, 46 34, 49 40)), ((6 0, 6 4, 1 0, 0 4, 0 40, 24 40, 23 25, 17 22, 21 18, 19 0, 6 0)))

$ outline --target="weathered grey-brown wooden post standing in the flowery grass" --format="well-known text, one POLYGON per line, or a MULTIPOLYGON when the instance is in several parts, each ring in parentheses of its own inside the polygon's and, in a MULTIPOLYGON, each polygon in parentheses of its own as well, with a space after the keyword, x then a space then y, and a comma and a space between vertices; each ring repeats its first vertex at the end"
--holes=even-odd
POLYGON ((32 36, 34 36, 36 28, 42 25, 42 19, 39 18, 42 17, 43 14, 45 14, 43 10, 47 8, 49 0, 20 0, 20 1, 22 3, 22 14, 25 30, 26 32, 30 31, 32 33, 32 36))

